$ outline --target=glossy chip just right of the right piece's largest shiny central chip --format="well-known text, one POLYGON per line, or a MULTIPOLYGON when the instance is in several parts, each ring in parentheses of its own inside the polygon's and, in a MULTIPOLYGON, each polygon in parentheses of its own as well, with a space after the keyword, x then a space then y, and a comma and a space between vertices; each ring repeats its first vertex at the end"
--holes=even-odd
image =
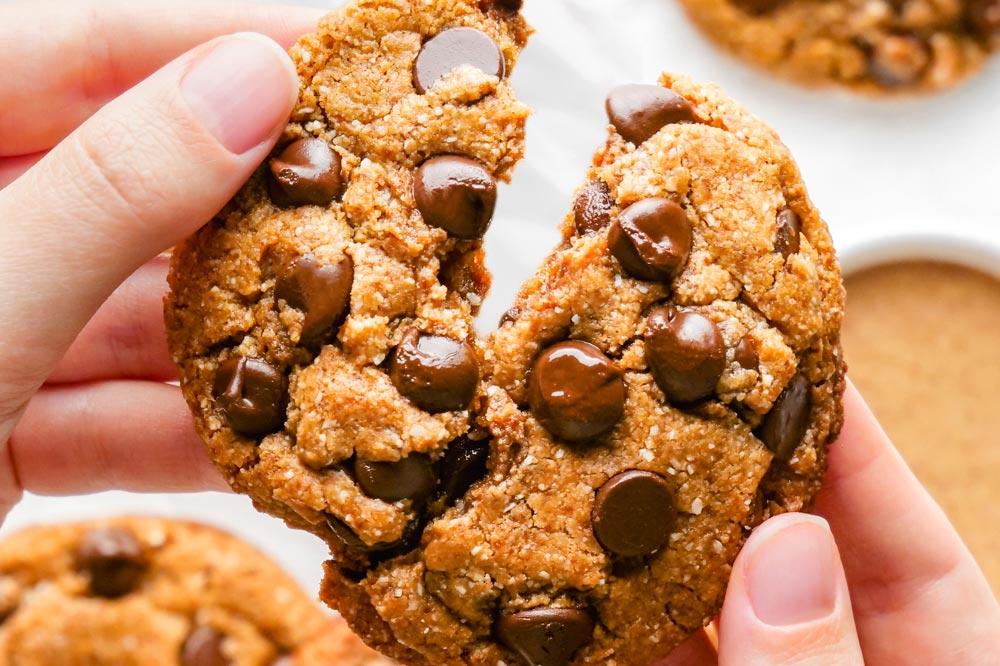
POLYGON ((667 399, 687 403, 715 391, 726 369, 726 343, 711 319, 669 307, 646 321, 646 362, 667 399))

